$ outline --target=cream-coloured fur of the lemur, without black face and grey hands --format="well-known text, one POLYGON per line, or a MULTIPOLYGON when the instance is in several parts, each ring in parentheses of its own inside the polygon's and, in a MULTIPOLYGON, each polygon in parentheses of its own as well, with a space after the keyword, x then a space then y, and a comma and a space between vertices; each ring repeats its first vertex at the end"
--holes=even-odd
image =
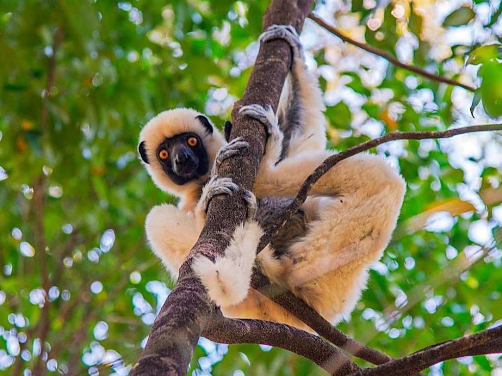
MULTIPOLYGON (((294 61, 292 74, 295 74, 301 100, 302 127, 292 135, 286 158, 278 165, 275 163, 280 143, 268 145, 255 181, 257 196, 295 197, 307 176, 330 155, 325 150, 322 93, 303 61, 298 58, 294 61)), ((293 77, 289 77, 280 110, 287 108, 287 101, 291 100, 287 85, 292 82, 293 77)), ((191 127, 191 119, 198 113, 181 110, 185 112, 173 112, 170 118, 163 115, 149 122, 156 126, 148 132, 144 130, 140 138, 140 141, 147 140, 149 153, 155 153, 156 143, 169 137, 166 135, 186 129, 178 124, 191 127), (175 124, 173 130, 170 124, 175 124), (161 135, 157 134, 159 130, 161 135)), ((269 114, 267 117, 276 121, 270 119, 269 114)), ((217 134, 215 130, 212 142, 203 139, 206 148, 211 148, 208 151, 211 162, 224 144, 217 134)), ((149 158, 156 161, 154 154, 149 154, 149 158)), ((156 206, 146 221, 147 237, 154 252, 177 278, 179 267, 202 229, 203 213, 191 210, 196 206, 203 183, 194 182, 189 187, 175 189, 179 187, 173 188, 161 170, 150 168, 156 184, 180 195, 185 203, 182 210, 172 205, 156 206)), ((366 285, 368 268, 380 259, 389 243, 404 193, 403 179, 382 157, 359 154, 343 160, 312 187, 302 205, 305 217, 310 220, 306 235, 279 259, 267 246, 259 255, 258 264, 272 281, 290 289, 326 319, 338 322, 352 311, 366 285)), ((199 259, 193 264, 194 270, 208 287, 210 296, 222 304, 225 316, 272 320, 306 328, 296 317, 253 289, 248 290, 242 301, 232 304, 240 300, 241 292, 249 284, 252 257, 250 249, 244 248, 254 250, 259 239, 259 227, 246 232, 246 226, 253 227, 250 223, 238 227, 225 258, 218 259, 216 264, 199 259), (218 279, 219 276, 225 278, 218 279), (236 291, 229 280, 238 286, 236 291)))

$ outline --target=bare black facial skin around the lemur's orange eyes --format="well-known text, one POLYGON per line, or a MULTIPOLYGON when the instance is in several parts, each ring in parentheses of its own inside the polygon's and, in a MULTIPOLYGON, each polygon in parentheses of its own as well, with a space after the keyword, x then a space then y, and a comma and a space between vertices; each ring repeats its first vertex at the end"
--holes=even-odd
POLYGON ((197 179, 209 170, 206 149, 202 140, 195 133, 181 133, 165 139, 157 148, 157 160, 164 172, 177 185, 183 185, 197 179), (188 139, 191 137, 197 139, 197 145, 188 145, 188 139), (168 151, 167 159, 161 159, 159 156, 163 149, 168 151))

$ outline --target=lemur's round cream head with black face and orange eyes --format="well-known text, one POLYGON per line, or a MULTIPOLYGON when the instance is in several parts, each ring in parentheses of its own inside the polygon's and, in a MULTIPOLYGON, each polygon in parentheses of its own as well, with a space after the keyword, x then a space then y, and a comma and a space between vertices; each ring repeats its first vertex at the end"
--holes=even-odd
POLYGON ((209 177, 224 140, 208 118, 191 108, 159 113, 140 133, 138 151, 162 190, 183 195, 209 177))

